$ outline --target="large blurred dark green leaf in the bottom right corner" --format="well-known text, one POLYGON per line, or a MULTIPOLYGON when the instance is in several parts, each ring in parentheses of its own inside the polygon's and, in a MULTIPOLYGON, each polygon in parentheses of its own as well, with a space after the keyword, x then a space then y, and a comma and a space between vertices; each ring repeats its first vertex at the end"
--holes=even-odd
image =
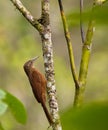
POLYGON ((64 130, 108 130, 108 103, 92 103, 62 115, 64 130))

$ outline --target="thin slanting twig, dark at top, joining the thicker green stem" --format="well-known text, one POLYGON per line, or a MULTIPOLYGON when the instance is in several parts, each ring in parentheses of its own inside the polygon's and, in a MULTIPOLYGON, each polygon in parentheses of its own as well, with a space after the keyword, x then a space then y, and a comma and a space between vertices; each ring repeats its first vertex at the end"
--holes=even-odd
POLYGON ((78 77, 77 77, 76 67, 75 67, 75 62, 74 62, 74 55, 73 55, 73 48, 72 48, 72 43, 71 43, 70 32, 69 32, 66 17, 65 17, 65 14, 64 14, 62 1, 58 0, 58 2, 59 2, 60 13, 61 13, 63 27, 64 27, 65 38, 66 38, 67 46, 68 46, 71 72, 72 72, 72 76, 73 76, 73 79, 74 79, 74 82, 75 82, 75 86, 79 87, 79 82, 78 82, 78 77))

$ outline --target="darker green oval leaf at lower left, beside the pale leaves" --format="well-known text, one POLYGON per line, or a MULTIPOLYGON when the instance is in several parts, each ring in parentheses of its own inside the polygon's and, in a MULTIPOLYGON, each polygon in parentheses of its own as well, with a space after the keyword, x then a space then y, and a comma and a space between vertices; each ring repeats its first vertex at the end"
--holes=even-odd
POLYGON ((6 97, 3 101, 5 101, 8 104, 9 109, 15 117, 15 119, 19 123, 25 124, 27 120, 27 114, 23 104, 10 93, 6 94, 6 97))

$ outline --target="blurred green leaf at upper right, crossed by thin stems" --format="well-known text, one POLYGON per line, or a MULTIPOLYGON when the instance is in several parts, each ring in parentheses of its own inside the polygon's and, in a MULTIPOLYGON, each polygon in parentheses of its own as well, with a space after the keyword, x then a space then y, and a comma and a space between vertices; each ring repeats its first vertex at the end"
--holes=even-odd
MULTIPOLYGON (((83 9, 83 23, 88 23, 89 19, 90 19, 90 15, 91 15, 91 8, 87 8, 85 7, 83 9), (86 8, 86 9, 85 9, 86 8)), ((107 25, 108 24, 108 2, 106 2, 103 5, 98 5, 95 7, 94 9, 94 19, 96 21, 96 25, 107 25)), ((80 13, 78 10, 71 10, 70 13, 68 13, 67 15, 67 19, 68 19, 68 24, 70 27, 73 26, 78 26, 79 25, 79 20, 80 20, 80 13)))

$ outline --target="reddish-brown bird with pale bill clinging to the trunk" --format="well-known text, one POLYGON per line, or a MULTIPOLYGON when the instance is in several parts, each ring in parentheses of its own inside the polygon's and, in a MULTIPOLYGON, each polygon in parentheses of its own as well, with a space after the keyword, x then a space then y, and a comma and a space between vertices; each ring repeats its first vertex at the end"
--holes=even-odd
POLYGON ((28 60, 23 68, 29 79, 33 94, 35 99, 40 103, 43 107, 45 115, 48 119, 49 124, 53 123, 51 114, 49 113, 46 107, 46 86, 47 81, 43 74, 41 74, 35 67, 34 62, 39 58, 39 56, 28 60))

